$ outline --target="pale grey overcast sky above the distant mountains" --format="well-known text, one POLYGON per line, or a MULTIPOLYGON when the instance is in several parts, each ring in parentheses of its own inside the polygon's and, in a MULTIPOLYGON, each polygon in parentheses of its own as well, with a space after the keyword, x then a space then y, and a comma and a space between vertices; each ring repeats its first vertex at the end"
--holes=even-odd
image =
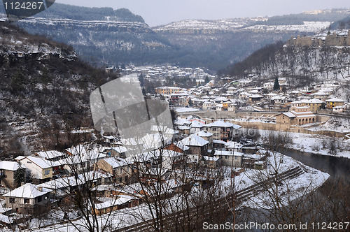
POLYGON ((350 8, 349 0, 56 0, 76 6, 127 8, 151 27, 180 20, 273 16, 350 8))

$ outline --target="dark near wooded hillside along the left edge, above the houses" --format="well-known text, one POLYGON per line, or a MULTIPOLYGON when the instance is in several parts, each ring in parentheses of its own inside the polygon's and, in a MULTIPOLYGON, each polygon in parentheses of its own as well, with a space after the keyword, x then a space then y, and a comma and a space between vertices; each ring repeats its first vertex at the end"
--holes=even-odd
POLYGON ((6 22, 0 37, 0 156, 59 149, 64 129, 92 126, 90 92, 116 74, 78 60, 69 45, 6 22))

